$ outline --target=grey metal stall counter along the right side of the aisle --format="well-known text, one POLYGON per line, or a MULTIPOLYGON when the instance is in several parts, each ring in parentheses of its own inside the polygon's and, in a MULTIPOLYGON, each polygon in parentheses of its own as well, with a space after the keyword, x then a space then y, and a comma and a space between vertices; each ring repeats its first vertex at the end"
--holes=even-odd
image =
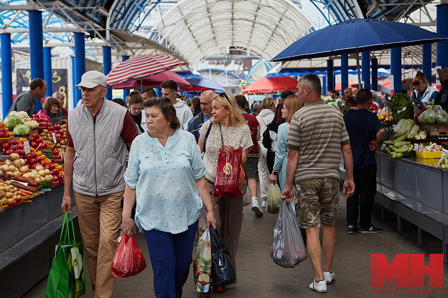
POLYGON ((402 219, 443 240, 444 260, 448 262, 448 171, 438 166, 440 158, 392 158, 376 151, 377 194, 375 202, 402 219), (445 192, 444 192, 445 190, 445 192))

